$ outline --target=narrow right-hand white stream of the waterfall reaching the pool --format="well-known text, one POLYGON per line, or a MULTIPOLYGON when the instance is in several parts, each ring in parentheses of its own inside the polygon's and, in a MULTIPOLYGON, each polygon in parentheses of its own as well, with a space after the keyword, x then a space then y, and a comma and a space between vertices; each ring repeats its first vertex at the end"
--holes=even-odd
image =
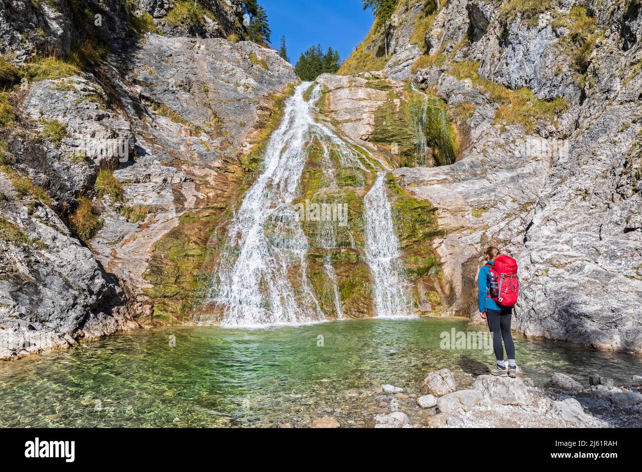
POLYGON ((392 210, 383 183, 385 173, 377 173, 366 195, 365 254, 374 277, 374 302, 379 317, 410 316, 404 293, 404 277, 399 241, 392 226, 392 210))

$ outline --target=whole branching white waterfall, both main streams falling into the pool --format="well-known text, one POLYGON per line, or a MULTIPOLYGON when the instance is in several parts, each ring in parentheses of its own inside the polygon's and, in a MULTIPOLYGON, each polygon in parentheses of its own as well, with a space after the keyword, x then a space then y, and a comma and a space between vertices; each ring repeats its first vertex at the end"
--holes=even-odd
MULTIPOLYGON (((293 203, 300 197, 310 143, 320 143, 323 148, 320 160, 324 165, 324 182, 330 188, 336 188, 336 174, 345 169, 371 173, 373 167, 381 164, 315 121, 314 107, 321 92, 315 87, 306 101, 304 92, 310 86, 310 83, 301 83, 286 101, 281 126, 272 133, 266 148, 264 170, 247 191, 230 223, 229 240, 221 252, 218 286, 213 288, 213 300, 223 309, 224 325, 324 320, 325 313, 306 273, 306 255, 311 247, 327 251, 323 267, 327 281, 333 285, 334 310, 338 318, 343 317, 337 277, 329 258, 329 251, 338 245, 337 225, 320 222, 317 241, 311 244, 293 203), (336 169, 331 162, 331 151, 338 161, 336 169)), ((408 315, 409 310, 398 270, 399 243, 392 227, 384 176, 384 172, 377 174, 374 186, 365 197, 365 253, 374 279, 377 315, 394 317, 408 315)), ((361 180, 365 185, 365 178, 361 180)), ((348 234, 354 249, 354 240, 348 234)))

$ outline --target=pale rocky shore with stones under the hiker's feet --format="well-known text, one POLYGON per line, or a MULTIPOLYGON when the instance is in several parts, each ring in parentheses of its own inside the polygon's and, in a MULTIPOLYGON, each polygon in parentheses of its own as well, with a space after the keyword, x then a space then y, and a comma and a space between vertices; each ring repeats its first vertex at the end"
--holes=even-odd
MULTIPOLYGON (((379 400, 368 428, 636 428, 642 427, 642 376, 615 386, 591 375, 584 383, 555 373, 543 387, 530 378, 492 375, 455 380, 449 369, 429 372, 420 385, 381 385, 361 396, 379 400)), ((313 428, 354 426, 331 416, 313 428)), ((290 423, 281 427, 291 427, 290 423)), ((301 425, 306 426, 306 425, 301 425)))

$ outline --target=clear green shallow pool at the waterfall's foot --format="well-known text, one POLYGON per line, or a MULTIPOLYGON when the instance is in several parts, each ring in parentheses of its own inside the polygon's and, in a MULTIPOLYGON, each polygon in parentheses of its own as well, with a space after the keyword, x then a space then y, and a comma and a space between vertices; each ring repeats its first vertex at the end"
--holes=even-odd
MULTIPOLYGON (((382 383, 417 393, 434 369, 485 373, 492 354, 440 349, 440 333, 451 328, 484 326, 372 319, 117 335, 0 362, 0 426, 303 426, 323 415, 360 426, 380 401, 364 392, 382 383)), ((593 372, 621 383, 642 372, 639 356, 523 338, 516 345, 517 362, 538 385, 555 371, 584 383, 593 372)))

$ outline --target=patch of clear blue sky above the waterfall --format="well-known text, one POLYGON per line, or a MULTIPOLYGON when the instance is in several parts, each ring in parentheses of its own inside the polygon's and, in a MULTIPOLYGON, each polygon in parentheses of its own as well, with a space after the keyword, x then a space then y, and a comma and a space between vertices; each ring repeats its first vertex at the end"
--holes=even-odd
POLYGON ((373 16, 361 0, 259 0, 268 13, 272 47, 285 35, 288 56, 296 64, 313 44, 338 49, 343 59, 366 37, 373 16))

